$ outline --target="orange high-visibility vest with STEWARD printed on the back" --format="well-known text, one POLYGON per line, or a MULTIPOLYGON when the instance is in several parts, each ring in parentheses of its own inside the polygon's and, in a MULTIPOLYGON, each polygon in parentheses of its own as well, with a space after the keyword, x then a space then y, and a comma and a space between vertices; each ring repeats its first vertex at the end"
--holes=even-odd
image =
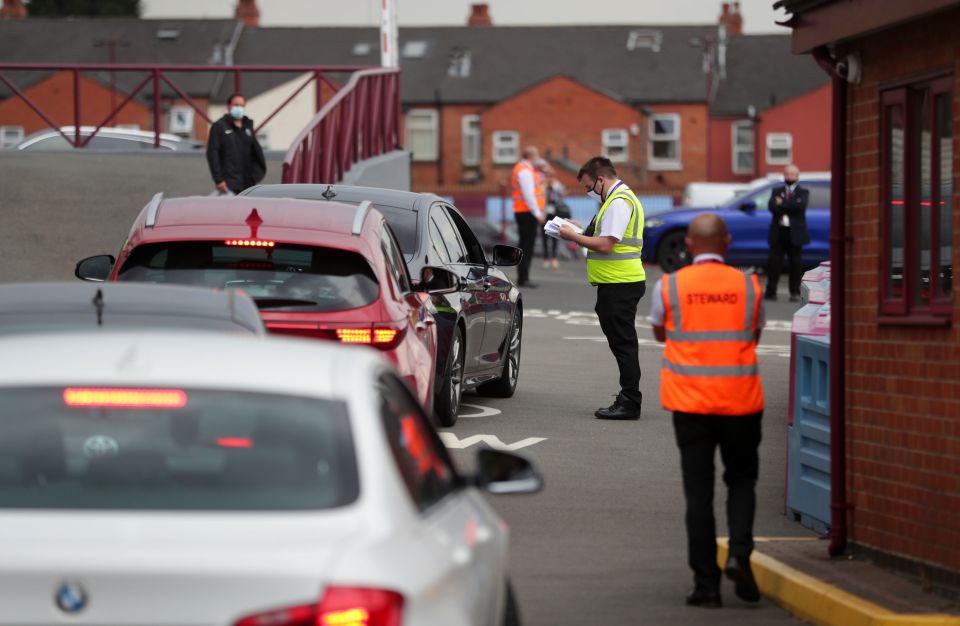
POLYGON ((710 415, 763 410, 756 351, 760 298, 756 276, 723 263, 664 274, 663 408, 710 415))

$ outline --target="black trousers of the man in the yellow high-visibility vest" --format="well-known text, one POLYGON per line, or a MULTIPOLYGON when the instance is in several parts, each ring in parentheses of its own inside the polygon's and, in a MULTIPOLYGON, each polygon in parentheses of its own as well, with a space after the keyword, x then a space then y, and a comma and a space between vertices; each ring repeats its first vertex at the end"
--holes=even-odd
POLYGON ((620 400, 640 408, 640 348, 637 344, 637 305, 647 290, 644 281, 597 285, 594 310, 600 330, 620 369, 620 400))

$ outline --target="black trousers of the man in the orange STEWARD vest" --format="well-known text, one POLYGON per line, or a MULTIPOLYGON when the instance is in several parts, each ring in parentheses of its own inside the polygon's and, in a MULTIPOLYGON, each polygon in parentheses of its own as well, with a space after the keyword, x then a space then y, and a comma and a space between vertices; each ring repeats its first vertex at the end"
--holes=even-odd
POLYGON ((713 458, 717 447, 727 485, 727 530, 730 556, 749 559, 753 552, 763 412, 750 415, 703 415, 674 411, 673 428, 680 448, 683 495, 687 501, 687 562, 698 589, 720 588, 717 528, 713 517, 713 458))

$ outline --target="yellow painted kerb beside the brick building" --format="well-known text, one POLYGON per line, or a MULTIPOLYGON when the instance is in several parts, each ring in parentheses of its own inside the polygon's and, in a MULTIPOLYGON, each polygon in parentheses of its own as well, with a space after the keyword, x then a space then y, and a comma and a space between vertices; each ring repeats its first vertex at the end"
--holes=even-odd
MULTIPOLYGON (((757 543, 763 539, 757 538, 757 543)), ((727 538, 717 539, 717 560, 727 561, 727 538)), ((904 614, 867 602, 754 550, 750 566, 760 592, 800 619, 823 626, 960 626, 960 617, 904 614)))

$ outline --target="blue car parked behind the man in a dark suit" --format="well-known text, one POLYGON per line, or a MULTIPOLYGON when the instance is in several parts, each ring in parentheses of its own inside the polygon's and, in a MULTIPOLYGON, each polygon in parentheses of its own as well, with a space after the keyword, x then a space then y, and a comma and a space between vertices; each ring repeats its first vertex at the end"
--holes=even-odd
MULTIPOLYGON (((687 225, 705 211, 716 213, 727 223, 733 243, 727 250, 727 263, 738 267, 764 267, 767 264, 767 233, 770 211, 767 202, 775 187, 771 182, 736 197, 727 204, 708 209, 674 209, 647 217, 643 225, 643 260, 655 262, 664 272, 673 272, 690 263, 683 239, 687 225)), ((803 247, 804 267, 815 267, 830 258, 830 181, 800 181, 810 190, 807 205, 807 229, 810 243, 803 247)))

